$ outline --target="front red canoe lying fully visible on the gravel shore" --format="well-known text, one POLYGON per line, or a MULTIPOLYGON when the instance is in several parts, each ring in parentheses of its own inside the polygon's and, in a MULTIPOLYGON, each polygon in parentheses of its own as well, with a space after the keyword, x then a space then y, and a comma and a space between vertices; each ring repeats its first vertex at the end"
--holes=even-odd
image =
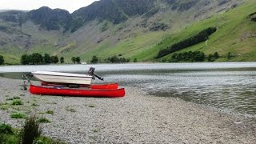
POLYGON ((42 95, 116 98, 125 96, 125 89, 69 89, 59 86, 30 85, 30 93, 42 95))

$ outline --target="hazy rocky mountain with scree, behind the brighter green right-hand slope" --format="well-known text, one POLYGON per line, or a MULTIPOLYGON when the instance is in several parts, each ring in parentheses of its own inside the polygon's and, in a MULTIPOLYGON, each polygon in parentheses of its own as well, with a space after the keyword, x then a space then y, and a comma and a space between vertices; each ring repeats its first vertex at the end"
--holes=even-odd
POLYGON ((13 55, 10 61, 23 53, 46 51, 66 58, 78 55, 84 61, 90 61, 92 55, 152 60, 158 50, 143 53, 158 49, 155 45, 163 38, 247 1, 101 0, 72 14, 46 6, 30 11, 8 10, 0 12, 0 54, 13 55))

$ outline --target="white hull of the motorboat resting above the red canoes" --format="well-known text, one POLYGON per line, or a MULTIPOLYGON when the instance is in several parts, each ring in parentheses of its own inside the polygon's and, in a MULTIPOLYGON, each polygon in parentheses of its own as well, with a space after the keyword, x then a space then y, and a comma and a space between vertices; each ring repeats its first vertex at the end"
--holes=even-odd
POLYGON ((33 77, 42 82, 55 82, 55 83, 69 83, 69 84, 81 84, 90 85, 92 82, 92 76, 86 74, 69 74, 59 72, 48 71, 36 71, 32 72, 33 77))

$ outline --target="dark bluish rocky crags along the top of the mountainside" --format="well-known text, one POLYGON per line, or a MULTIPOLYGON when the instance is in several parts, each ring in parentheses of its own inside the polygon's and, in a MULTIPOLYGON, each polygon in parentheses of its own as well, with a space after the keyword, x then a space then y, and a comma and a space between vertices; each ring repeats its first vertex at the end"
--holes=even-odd
MULTIPOLYGON (((218 6, 230 1, 231 0, 218 0, 218 6)), ((24 13, 24 11, 20 10, 9 10, 6 11, 6 15, 11 15, 9 19, 6 15, 6 18, 1 17, 1 15, 0 18, 10 22, 26 22, 26 20, 31 20, 35 24, 42 26, 45 30, 60 30, 64 28, 65 31, 73 29, 72 31, 74 32, 87 22, 96 19, 98 19, 98 21, 107 20, 113 22, 113 24, 118 24, 134 16, 142 16, 143 14, 147 17, 153 16, 159 10, 168 10, 167 7, 180 12, 190 10, 190 8, 200 2, 204 2, 202 4, 203 6, 210 4, 210 0, 101 0, 93 2, 90 6, 75 10, 72 14, 67 10, 52 10, 47 6, 42 6, 37 10, 30 10, 28 13, 24 13), (161 4, 166 5, 164 7, 165 9, 163 9, 161 4)))

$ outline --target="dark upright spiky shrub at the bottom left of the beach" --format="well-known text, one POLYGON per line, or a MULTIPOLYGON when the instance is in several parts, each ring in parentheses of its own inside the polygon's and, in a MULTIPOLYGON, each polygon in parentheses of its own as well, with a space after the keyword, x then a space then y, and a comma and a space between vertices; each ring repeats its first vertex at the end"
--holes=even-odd
POLYGON ((30 118, 26 119, 25 126, 21 130, 19 143, 32 144, 41 133, 42 130, 39 128, 39 123, 36 122, 35 116, 30 116, 30 118))

